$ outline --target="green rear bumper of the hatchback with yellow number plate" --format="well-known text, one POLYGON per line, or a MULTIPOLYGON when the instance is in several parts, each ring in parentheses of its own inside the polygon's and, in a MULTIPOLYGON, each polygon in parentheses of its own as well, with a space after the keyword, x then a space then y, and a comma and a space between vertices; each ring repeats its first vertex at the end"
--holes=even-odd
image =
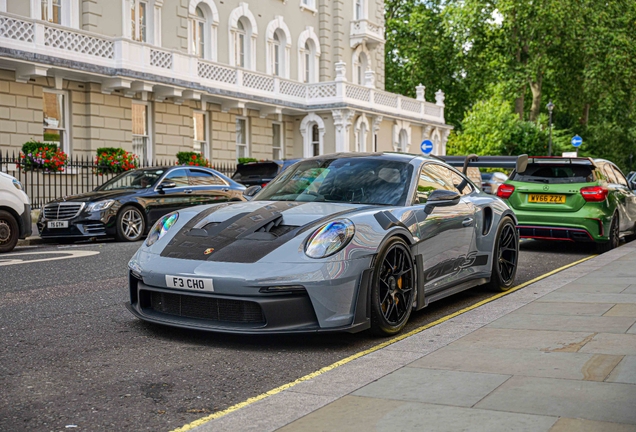
POLYGON ((514 212, 521 238, 577 242, 609 240, 612 218, 602 211, 590 212, 584 208, 578 212, 539 213, 516 209, 514 212))

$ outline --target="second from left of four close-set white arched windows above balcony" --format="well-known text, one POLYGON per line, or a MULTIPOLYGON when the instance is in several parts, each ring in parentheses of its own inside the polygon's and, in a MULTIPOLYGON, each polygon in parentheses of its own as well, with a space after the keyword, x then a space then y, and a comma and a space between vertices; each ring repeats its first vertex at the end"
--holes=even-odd
POLYGON ((247 3, 230 13, 230 65, 246 69, 256 67, 256 38, 258 29, 256 19, 247 3))

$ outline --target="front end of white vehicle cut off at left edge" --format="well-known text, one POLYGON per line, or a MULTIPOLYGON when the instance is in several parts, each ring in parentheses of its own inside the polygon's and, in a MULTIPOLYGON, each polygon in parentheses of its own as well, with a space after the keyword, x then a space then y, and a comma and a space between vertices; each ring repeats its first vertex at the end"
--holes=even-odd
POLYGON ((10 252, 18 239, 31 235, 29 197, 15 177, 0 172, 0 252, 10 252))

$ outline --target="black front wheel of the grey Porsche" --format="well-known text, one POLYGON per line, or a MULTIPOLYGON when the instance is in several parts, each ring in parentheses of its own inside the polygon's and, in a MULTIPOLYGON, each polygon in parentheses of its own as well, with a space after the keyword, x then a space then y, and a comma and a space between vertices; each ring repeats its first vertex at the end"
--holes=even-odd
POLYGON ((371 331, 394 335, 406 325, 415 296, 415 264, 409 246, 391 238, 378 254, 371 287, 371 331))

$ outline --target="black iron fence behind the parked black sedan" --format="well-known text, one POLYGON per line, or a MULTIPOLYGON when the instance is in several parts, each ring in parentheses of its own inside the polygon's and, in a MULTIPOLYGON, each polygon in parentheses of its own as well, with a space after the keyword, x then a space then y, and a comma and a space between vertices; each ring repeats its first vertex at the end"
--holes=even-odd
MULTIPOLYGON (((162 167, 176 165, 174 159, 157 159, 152 162, 142 162, 140 168, 162 167)), ((117 174, 102 173, 98 169, 94 156, 69 156, 62 172, 46 172, 43 170, 24 170, 20 153, 4 155, 0 152, 0 171, 17 178, 24 187, 31 200, 31 208, 42 208, 47 202, 63 196, 77 195, 90 192, 117 174)), ((236 165, 214 164, 212 166, 230 177, 236 165)))

